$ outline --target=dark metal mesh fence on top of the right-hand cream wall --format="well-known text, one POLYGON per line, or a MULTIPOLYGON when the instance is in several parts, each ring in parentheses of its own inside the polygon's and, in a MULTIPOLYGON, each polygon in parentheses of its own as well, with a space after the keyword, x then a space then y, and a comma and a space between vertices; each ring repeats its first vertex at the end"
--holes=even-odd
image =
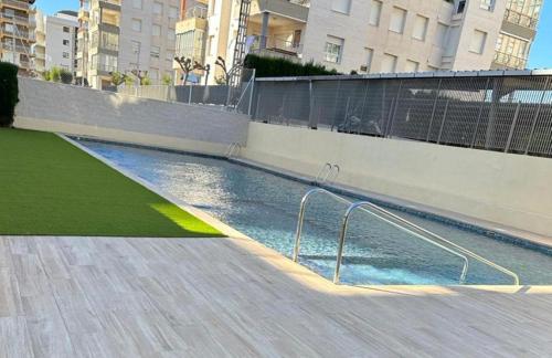
POLYGON ((254 120, 552 157, 552 76, 256 81, 254 120))

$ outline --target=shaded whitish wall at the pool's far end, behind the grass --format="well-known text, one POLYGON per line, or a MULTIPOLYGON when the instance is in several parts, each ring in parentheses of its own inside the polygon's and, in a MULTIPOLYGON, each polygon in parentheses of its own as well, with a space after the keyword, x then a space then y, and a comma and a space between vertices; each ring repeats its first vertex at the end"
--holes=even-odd
POLYGON ((246 116, 20 77, 15 126, 223 155, 244 144, 246 116))

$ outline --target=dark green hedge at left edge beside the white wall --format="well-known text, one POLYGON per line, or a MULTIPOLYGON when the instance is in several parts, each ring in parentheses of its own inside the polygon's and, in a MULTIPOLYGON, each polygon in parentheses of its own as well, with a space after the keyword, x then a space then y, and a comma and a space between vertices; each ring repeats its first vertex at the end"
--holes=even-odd
POLYGON ((18 66, 0 62, 0 127, 11 127, 19 102, 18 66))

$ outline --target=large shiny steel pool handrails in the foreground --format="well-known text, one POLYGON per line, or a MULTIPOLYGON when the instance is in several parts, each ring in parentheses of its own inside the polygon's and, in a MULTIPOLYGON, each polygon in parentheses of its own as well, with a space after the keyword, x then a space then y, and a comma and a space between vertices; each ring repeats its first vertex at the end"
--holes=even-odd
POLYGON ((481 257, 480 255, 449 241, 449 240, 446 240, 439 235, 437 235, 436 233, 433 233, 424 228, 421 228, 410 221, 407 221, 406 219, 403 219, 374 203, 371 203, 369 201, 358 201, 358 202, 352 202, 352 201, 349 201, 338 194, 335 194, 333 192, 331 191, 328 191, 326 189, 322 189, 322 188, 315 188, 315 189, 311 189, 309 190, 304 197, 302 197, 302 200, 301 200, 301 206, 300 206, 300 210, 299 210, 299 219, 298 219, 298 222, 297 222, 297 232, 296 232, 296 238, 295 238, 295 248, 294 248, 294 261, 295 262, 298 262, 299 260, 299 250, 300 250, 300 241, 301 241, 301 232, 302 232, 302 222, 304 222, 304 219, 305 219, 305 208, 307 206, 307 202, 309 200, 309 198, 311 196, 314 196, 315 193, 323 193, 323 194, 327 194, 329 196, 330 198, 337 200, 337 201, 340 201, 340 202, 343 202, 343 203, 347 203, 349 204, 346 213, 343 214, 343 220, 342 220, 342 223, 341 223, 341 230, 340 230, 340 234, 339 234, 339 244, 338 244, 338 253, 337 253, 337 261, 336 261, 336 271, 333 273, 333 283, 335 284, 339 284, 339 274, 340 274, 340 270, 341 270, 341 264, 342 264, 342 261, 343 261, 343 249, 344 249, 344 243, 346 243, 346 236, 347 236, 347 229, 348 229, 348 225, 349 225, 349 219, 351 217, 351 213, 354 212, 355 210, 362 210, 380 220, 383 220, 388 223, 390 223, 391 225, 400 229, 400 230, 403 230, 405 232, 408 232, 411 234, 413 234, 415 238, 418 238, 429 244, 433 244, 434 246, 437 246, 457 257, 460 257, 464 260, 464 266, 463 266, 463 270, 461 270, 461 274, 460 274, 460 278, 459 278, 459 284, 463 284, 465 281, 466 281, 466 276, 467 276, 467 273, 468 273, 468 268, 469 268, 469 261, 468 261, 468 256, 474 259, 474 260, 477 260, 510 277, 512 277, 513 280, 513 284, 514 285, 519 285, 520 284, 520 281, 519 281, 519 276, 511 272, 510 270, 506 268, 506 267, 502 267, 485 257, 481 257), (373 209, 380 213, 383 213, 390 218, 392 218, 393 220, 396 220, 397 222, 394 222, 392 220, 389 220, 389 219, 385 219, 383 218, 382 215, 380 214, 376 214, 370 210, 368 210, 367 208, 370 208, 370 209, 373 209), (410 229, 408 229, 410 228, 410 229), (418 231, 418 232, 416 232, 418 231), (422 234, 421 234, 422 233, 422 234), (431 239, 431 238, 433 239, 431 239), (437 241, 440 241, 443 243, 446 243, 448 245, 450 245, 452 248, 454 249, 449 249, 443 244, 440 244, 439 242, 437 241))

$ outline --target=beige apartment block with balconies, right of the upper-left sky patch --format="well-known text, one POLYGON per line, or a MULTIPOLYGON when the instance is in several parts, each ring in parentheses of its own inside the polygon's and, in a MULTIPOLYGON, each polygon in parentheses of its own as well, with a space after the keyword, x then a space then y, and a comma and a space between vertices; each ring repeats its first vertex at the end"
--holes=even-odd
POLYGON ((77 82, 103 88, 114 71, 172 77, 179 14, 179 0, 81 0, 77 82))

